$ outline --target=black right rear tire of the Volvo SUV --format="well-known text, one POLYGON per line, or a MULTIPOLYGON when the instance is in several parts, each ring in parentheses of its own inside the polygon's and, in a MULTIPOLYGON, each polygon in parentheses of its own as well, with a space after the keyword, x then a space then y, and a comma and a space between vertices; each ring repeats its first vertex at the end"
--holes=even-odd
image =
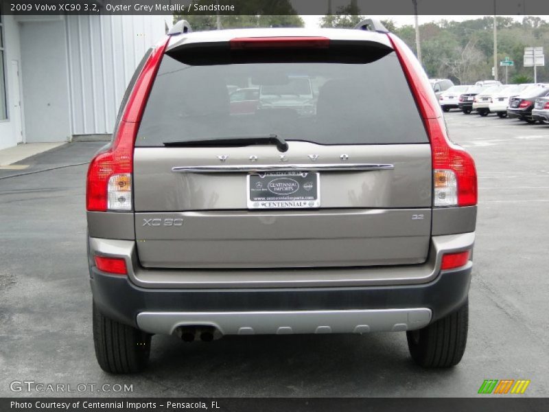
POLYGON ((422 367, 457 365, 467 343, 469 302, 420 330, 406 332, 412 359, 422 367))

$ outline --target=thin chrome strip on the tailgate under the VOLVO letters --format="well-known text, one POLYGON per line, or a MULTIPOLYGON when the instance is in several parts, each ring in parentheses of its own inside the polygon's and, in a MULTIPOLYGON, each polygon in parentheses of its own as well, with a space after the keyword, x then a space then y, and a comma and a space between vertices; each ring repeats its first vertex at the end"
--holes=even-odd
POLYGON ((330 172, 360 171, 360 170, 391 170, 395 165, 375 163, 319 163, 295 165, 211 165, 211 166, 176 166, 172 172, 178 173, 258 173, 258 172, 330 172))

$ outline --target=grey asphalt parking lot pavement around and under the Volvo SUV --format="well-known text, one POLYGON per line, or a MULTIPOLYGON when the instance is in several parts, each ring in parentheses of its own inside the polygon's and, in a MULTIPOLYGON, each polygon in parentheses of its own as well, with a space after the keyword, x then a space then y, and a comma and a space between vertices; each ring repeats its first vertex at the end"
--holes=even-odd
POLYGON ((32 380, 132 385, 67 396, 469 397, 484 379, 529 379, 525 396, 548 396, 549 127, 445 117, 476 159, 480 193, 469 341, 457 367, 417 367, 404 333, 191 344, 155 336, 145 373, 105 374, 91 334, 86 165, 62 167, 89 160, 102 144, 75 143, 22 161, 25 170, 0 170, 0 396, 63 396, 10 390, 32 380), (14 174, 23 175, 3 179, 14 174))

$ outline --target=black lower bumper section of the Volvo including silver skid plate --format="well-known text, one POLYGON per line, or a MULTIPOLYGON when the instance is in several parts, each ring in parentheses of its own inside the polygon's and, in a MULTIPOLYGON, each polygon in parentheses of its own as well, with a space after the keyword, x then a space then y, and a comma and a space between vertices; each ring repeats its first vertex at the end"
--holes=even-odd
POLYGON ((226 334, 362 333, 412 330, 441 319, 467 298, 471 268, 468 262, 443 271, 427 284, 242 289, 142 288, 92 268, 91 288, 106 316, 150 333, 172 334, 189 324, 226 334))

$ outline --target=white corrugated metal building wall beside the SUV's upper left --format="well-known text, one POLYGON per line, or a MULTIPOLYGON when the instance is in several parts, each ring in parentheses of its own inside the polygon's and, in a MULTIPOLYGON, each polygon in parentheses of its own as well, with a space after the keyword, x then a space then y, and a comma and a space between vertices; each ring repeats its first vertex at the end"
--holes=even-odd
POLYGON ((119 104, 143 54, 171 16, 67 16, 73 135, 113 133, 119 104))

